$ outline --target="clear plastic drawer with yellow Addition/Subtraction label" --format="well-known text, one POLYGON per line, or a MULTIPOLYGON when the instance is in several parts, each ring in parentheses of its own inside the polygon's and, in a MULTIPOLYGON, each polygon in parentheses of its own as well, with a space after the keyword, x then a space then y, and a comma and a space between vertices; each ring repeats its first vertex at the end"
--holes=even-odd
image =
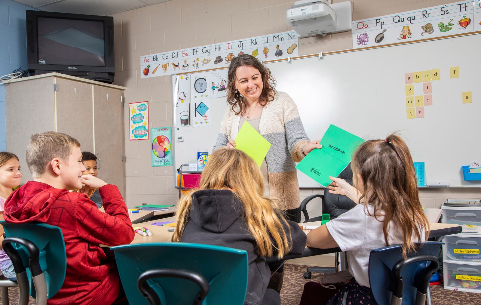
POLYGON ((444 237, 443 258, 481 264, 481 235, 456 234, 444 237))

